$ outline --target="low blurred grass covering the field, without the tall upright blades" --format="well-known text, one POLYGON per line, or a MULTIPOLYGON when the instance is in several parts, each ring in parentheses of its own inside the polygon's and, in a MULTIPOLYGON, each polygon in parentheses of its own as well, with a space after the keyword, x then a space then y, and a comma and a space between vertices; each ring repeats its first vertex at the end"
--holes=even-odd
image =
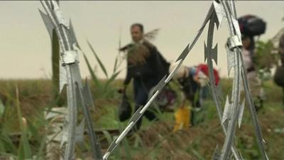
MULTIPOLYGON (((231 80, 228 79, 222 80, 224 93, 229 92, 230 82, 231 80)), ((43 111, 48 107, 54 107, 50 100, 51 83, 51 80, 0 80, 0 100, 5 108, 4 114, 1 114, 0 117, 0 158, 4 155, 12 155, 18 159, 20 155, 21 144, 11 143, 12 139, 9 137, 11 133, 23 132, 23 129, 18 125, 21 119, 17 116, 16 100, 18 100, 18 107, 21 109, 18 110, 22 114, 20 117, 25 117, 28 122, 26 138, 29 144, 26 145, 31 147, 31 154, 45 155, 43 135, 46 134, 45 127, 48 122, 43 118, 43 111), (19 90, 18 99, 16 98, 16 84, 19 90)), ((111 87, 119 88, 121 84, 121 80, 115 80, 111 83, 111 87)), ((272 81, 265 82, 264 86, 268 96, 263 110, 258 113, 258 118, 263 137, 267 142, 268 156, 275 160, 284 159, 282 154, 284 143, 281 140, 284 133, 279 132, 284 128, 284 107, 281 104, 282 90, 272 81)), ((90 87, 92 95, 96 97, 98 94, 95 90, 96 85, 90 82, 90 87)), ((132 88, 129 86, 129 95, 131 92, 132 88)), ((132 97, 130 96, 130 98, 132 97)), ((121 95, 117 92, 114 92, 111 97, 94 98, 96 112, 92 110, 92 117, 96 129, 124 129, 127 122, 121 123, 116 117, 120 99, 121 95)), ((196 127, 190 127, 180 132, 172 132, 175 124, 173 113, 159 114, 160 120, 158 122, 149 122, 147 119, 143 119, 138 134, 125 139, 111 159, 211 159, 215 146, 218 144, 219 149, 222 147, 224 134, 219 125, 216 107, 212 99, 209 98, 204 106, 206 106, 206 110, 197 114, 200 123, 196 127)), ((104 134, 109 139, 109 143, 111 139, 114 139, 107 132, 104 134)), ((243 124, 241 129, 236 130, 236 135, 238 149, 246 159, 260 159, 247 107, 245 107, 243 124)), ((88 147, 88 144, 85 143, 82 152, 87 151, 88 147)), ((78 154, 82 157, 84 155, 84 153, 78 154)))

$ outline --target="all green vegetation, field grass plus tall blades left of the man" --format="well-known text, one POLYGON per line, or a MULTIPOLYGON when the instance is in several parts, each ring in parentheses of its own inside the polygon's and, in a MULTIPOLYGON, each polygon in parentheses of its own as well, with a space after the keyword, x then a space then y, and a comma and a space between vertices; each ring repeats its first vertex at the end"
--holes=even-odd
MULTIPOLYGON (((94 108, 90 108, 90 112, 95 129, 102 130, 99 139, 103 151, 106 151, 115 138, 111 129, 121 132, 127 124, 119 122, 117 117, 117 108, 121 101, 117 90, 122 86, 122 80, 116 80, 116 77, 121 72, 119 68, 124 62, 124 56, 118 54, 113 73, 109 74, 90 43, 89 47, 106 76, 106 80, 99 80, 84 55, 91 75, 91 80, 87 82, 94 100, 94 108)), ((269 48, 269 43, 263 43, 263 48, 269 48)), ((174 90, 180 92, 174 82, 170 83, 174 90)), ((65 102, 64 96, 54 95, 54 85, 54 79, 0 80, 0 159, 46 158, 45 146, 50 144, 47 136, 50 134, 52 122, 45 119, 45 112, 52 107, 58 107, 59 99, 65 102)), ((223 97, 230 96, 231 79, 223 79, 221 85, 223 97)), ((127 89, 130 100, 133 99, 131 87, 130 85, 127 89)), ((272 80, 263 80, 263 88, 266 100, 263 109, 258 112, 258 118, 267 142, 268 156, 271 160, 284 159, 282 90, 272 80)), ((134 106, 133 102, 131 104, 134 106)), ((64 106, 64 103, 60 105, 64 106)), ((180 100, 175 104, 175 109, 179 106, 180 100)), ((82 113, 79 114, 82 117, 82 113)), ((195 127, 173 132, 173 112, 159 112, 158 117, 159 120, 155 122, 144 119, 141 130, 124 139, 110 159, 211 159, 215 147, 222 147, 224 134, 211 97, 204 102, 202 110, 197 112, 195 121, 198 124, 195 127)), ((117 134, 118 132, 116 136, 117 134)), ((246 159, 260 159, 247 107, 241 129, 236 129, 236 135, 236 145, 243 156, 246 159)), ((77 156, 82 159, 90 155, 87 137, 84 144, 78 144, 76 150, 77 156)))

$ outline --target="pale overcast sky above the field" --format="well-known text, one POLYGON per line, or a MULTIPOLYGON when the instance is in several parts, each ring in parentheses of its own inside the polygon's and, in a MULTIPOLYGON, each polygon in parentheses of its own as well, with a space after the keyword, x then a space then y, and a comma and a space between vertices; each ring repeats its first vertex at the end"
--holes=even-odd
MULTIPOLYGON (((88 39, 111 74, 117 54, 119 31, 122 45, 129 43, 131 23, 143 23, 145 31, 160 28, 153 43, 167 60, 175 60, 200 29, 212 1, 62 1, 63 16, 71 18, 80 46, 93 66, 97 63, 89 50, 88 39)), ((38 13, 39 1, 0 1, 0 79, 50 78, 50 37, 38 13)), ((283 28, 283 1, 237 1, 238 16, 254 14, 267 22, 266 41, 283 28)), ((226 22, 214 34, 218 45, 218 65, 226 76, 224 43, 228 37, 226 22)), ((207 29, 187 55, 185 65, 204 62, 207 29)), ((124 64, 125 65, 125 64, 124 64)), ((82 77, 89 76, 80 55, 82 77)), ((104 78, 101 70, 97 75, 104 78)), ((119 75, 124 78, 125 72, 119 75)))

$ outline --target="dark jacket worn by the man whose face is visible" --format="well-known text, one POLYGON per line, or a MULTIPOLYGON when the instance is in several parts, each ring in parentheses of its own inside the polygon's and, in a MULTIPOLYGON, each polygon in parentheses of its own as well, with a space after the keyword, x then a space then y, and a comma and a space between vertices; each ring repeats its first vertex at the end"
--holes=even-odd
MULTIPOLYGON (((129 62, 129 56, 127 57, 127 71, 124 85, 128 85, 132 78, 142 81, 149 78, 160 80, 164 75, 168 74, 170 64, 163 58, 158 49, 148 41, 143 41, 142 45, 148 48, 148 55, 145 57, 145 62, 142 64, 132 64, 129 62)), ((129 50, 133 47, 135 46, 128 46, 128 54, 129 50)))

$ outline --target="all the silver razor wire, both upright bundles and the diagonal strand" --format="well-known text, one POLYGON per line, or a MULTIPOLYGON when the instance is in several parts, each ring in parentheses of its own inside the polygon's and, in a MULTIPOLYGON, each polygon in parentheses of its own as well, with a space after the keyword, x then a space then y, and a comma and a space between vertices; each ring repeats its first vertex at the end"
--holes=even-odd
POLYGON ((244 113, 244 101, 240 101, 241 95, 241 84, 244 85, 246 101, 249 103, 249 110, 251 114, 251 119, 253 121, 253 126, 256 132, 256 139, 258 147, 261 151, 262 159, 268 160, 266 154, 264 140, 261 134, 261 127, 258 123, 258 118, 256 116, 256 110, 253 104, 253 99, 249 92, 249 83, 246 77, 246 70, 244 68, 244 62, 241 57, 241 32, 239 30, 239 23, 236 20, 236 8, 234 1, 213 1, 212 5, 209 8, 207 16, 202 23, 200 31, 198 31, 197 36, 195 36, 192 43, 188 43, 182 53, 175 60, 175 68, 169 74, 165 75, 158 85, 153 89, 153 92, 149 96, 149 100, 146 105, 141 106, 136 110, 131 119, 129 120, 128 125, 123 132, 114 139, 110 144, 104 156, 102 156, 102 149, 97 141, 96 135, 94 134, 92 128, 92 122, 89 116, 87 107, 93 106, 92 98, 89 92, 89 87, 86 85, 82 87, 80 69, 79 69, 79 60, 77 58, 77 50, 73 46, 79 45, 75 38, 75 33, 72 29, 71 23, 69 25, 66 23, 65 18, 61 14, 60 7, 55 1, 50 3, 54 6, 52 9, 48 1, 40 1, 43 5, 47 14, 44 14, 40 11, 43 21, 45 22, 48 32, 51 33, 55 29, 58 34, 58 39, 60 41, 60 50, 61 50, 61 68, 60 68, 60 90, 62 87, 67 84, 67 107, 68 107, 68 116, 66 119, 65 134, 62 137, 62 145, 65 146, 64 159, 74 159, 74 148, 75 143, 77 142, 76 135, 82 135, 84 129, 84 119, 87 122, 87 129, 91 139, 92 146, 92 156, 96 160, 107 160, 111 153, 116 149, 122 139, 126 137, 126 134, 133 128, 134 124, 140 119, 144 112, 151 105, 155 97, 163 90, 163 87, 173 78, 180 65, 182 65, 188 53, 195 43, 200 38, 200 35, 204 31, 205 26, 209 22, 208 35, 207 35, 207 45, 204 43, 204 60, 207 60, 207 65, 209 66, 209 85, 212 91, 212 97, 217 107, 217 113, 219 115, 219 120, 222 125, 222 129, 225 134, 225 141, 222 146, 221 155, 217 153, 215 149, 213 158, 218 160, 230 159, 231 154, 236 160, 244 160, 239 151, 237 151, 236 146, 234 145, 234 137, 236 131, 236 124, 241 126, 241 119, 244 113), (214 73, 213 73, 213 60, 217 64, 217 45, 213 46, 213 36, 214 36, 214 26, 219 28, 219 24, 226 18, 228 23, 229 38, 226 44, 226 56, 227 56, 227 67, 228 75, 232 68, 234 68, 234 80, 232 85, 231 100, 229 96, 226 96, 226 102, 224 106, 224 111, 221 107, 222 99, 222 90, 220 86, 215 85, 214 83, 214 73), (82 105, 84 112, 84 119, 79 127, 77 127, 77 105, 82 105), (241 103, 240 103, 241 102, 241 103))

